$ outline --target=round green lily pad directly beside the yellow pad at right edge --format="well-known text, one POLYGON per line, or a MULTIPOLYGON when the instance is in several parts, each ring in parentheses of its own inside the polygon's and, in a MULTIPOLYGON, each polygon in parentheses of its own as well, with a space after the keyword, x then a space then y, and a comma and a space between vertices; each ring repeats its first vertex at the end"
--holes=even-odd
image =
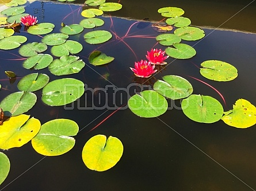
POLYGON ((200 123, 217 122, 223 115, 220 102, 211 96, 192 94, 182 100, 181 108, 189 119, 200 123))

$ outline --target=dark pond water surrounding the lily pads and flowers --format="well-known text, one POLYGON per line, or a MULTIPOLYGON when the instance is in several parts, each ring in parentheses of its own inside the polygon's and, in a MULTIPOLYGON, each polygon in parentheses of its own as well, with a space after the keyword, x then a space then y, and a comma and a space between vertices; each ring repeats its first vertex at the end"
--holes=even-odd
MULTIPOLYGON (((79 132, 74 137, 74 148, 57 157, 36 153, 30 142, 20 148, 2 151, 9 157, 11 169, 0 190, 255 190, 255 125, 240 129, 227 126, 222 120, 211 124, 197 123, 184 115, 179 100, 168 100, 169 110, 158 118, 139 118, 126 105, 129 96, 140 92, 139 84, 149 88, 162 76, 179 75, 190 81, 194 94, 212 96, 219 100, 225 111, 231 110, 232 104, 240 98, 255 106, 255 3, 249 6, 250 1, 167 3, 162 0, 157 6, 154 1, 121 0, 120 3, 123 9, 99 17, 105 21, 99 29, 112 32, 112 40, 100 45, 86 44, 83 34, 93 29, 85 29, 69 38, 83 45, 82 52, 76 56, 85 61, 86 67, 65 77, 83 81, 87 87, 85 94, 65 107, 50 107, 41 101, 39 90, 35 92, 36 105, 26 112, 39 119, 41 124, 57 118, 77 122, 79 132), (165 6, 184 9, 184 17, 190 18, 193 25, 201 26, 205 37, 185 42, 197 51, 192 59, 169 58, 168 64, 158 67, 161 72, 150 80, 137 79, 129 67, 133 67, 135 61, 146 59, 145 54, 151 48, 165 49, 156 44, 155 37, 159 33, 143 19, 162 20, 157 10, 165 6), (226 30, 215 30, 233 15, 234 18, 221 26, 226 30), (89 54, 96 49, 113 56, 114 61, 102 67, 90 65, 89 54), (200 64, 205 60, 230 63, 238 69, 239 75, 228 82, 205 79, 199 73, 200 64), (225 102, 213 88, 195 78, 216 88, 225 102), (95 91, 93 96, 90 89, 95 91), (109 116, 117 108, 119 110, 109 116), (124 145, 120 161, 104 172, 87 169, 81 157, 85 143, 97 134, 117 137, 124 145)), ((35 15, 39 23, 54 23, 52 33, 59 32, 62 22, 79 24, 84 18, 81 16, 84 7, 79 4, 36 1, 25 9, 26 13, 35 15)), ((27 42, 41 41, 40 36, 28 34, 23 28, 20 35, 26 36, 27 42)), ((45 53, 50 53, 50 50, 45 53)), ((45 73, 50 81, 63 77, 52 75, 47 68, 40 71, 23 68, 24 60, 19 60, 17 49, 0 50, 0 59, 0 100, 18 91, 20 77, 29 73, 45 73), (11 83, 4 71, 15 72, 17 80, 11 83)))

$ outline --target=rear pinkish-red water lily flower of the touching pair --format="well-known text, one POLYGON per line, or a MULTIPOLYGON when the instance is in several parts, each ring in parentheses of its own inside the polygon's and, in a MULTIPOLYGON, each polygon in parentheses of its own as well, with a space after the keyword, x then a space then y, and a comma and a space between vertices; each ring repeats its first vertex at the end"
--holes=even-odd
POLYGON ((165 56, 165 51, 161 49, 151 49, 150 52, 147 51, 146 57, 151 64, 167 64, 164 60, 169 56, 165 56))

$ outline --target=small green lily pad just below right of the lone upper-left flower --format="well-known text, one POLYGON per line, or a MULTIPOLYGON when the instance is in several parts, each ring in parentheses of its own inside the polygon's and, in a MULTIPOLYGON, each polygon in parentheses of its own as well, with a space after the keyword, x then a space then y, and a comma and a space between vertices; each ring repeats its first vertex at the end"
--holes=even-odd
POLYGON ((54 30, 54 24, 43 22, 37 25, 29 26, 28 33, 30 34, 48 34, 54 30))

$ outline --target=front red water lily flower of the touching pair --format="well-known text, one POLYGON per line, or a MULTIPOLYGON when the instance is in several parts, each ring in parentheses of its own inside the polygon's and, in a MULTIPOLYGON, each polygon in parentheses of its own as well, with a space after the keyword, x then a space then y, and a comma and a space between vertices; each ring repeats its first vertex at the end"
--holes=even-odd
POLYGON ((137 77, 150 77, 153 73, 157 71, 157 69, 155 69, 155 65, 151 65, 151 63, 147 60, 135 62, 135 69, 131 67, 130 69, 137 77))

